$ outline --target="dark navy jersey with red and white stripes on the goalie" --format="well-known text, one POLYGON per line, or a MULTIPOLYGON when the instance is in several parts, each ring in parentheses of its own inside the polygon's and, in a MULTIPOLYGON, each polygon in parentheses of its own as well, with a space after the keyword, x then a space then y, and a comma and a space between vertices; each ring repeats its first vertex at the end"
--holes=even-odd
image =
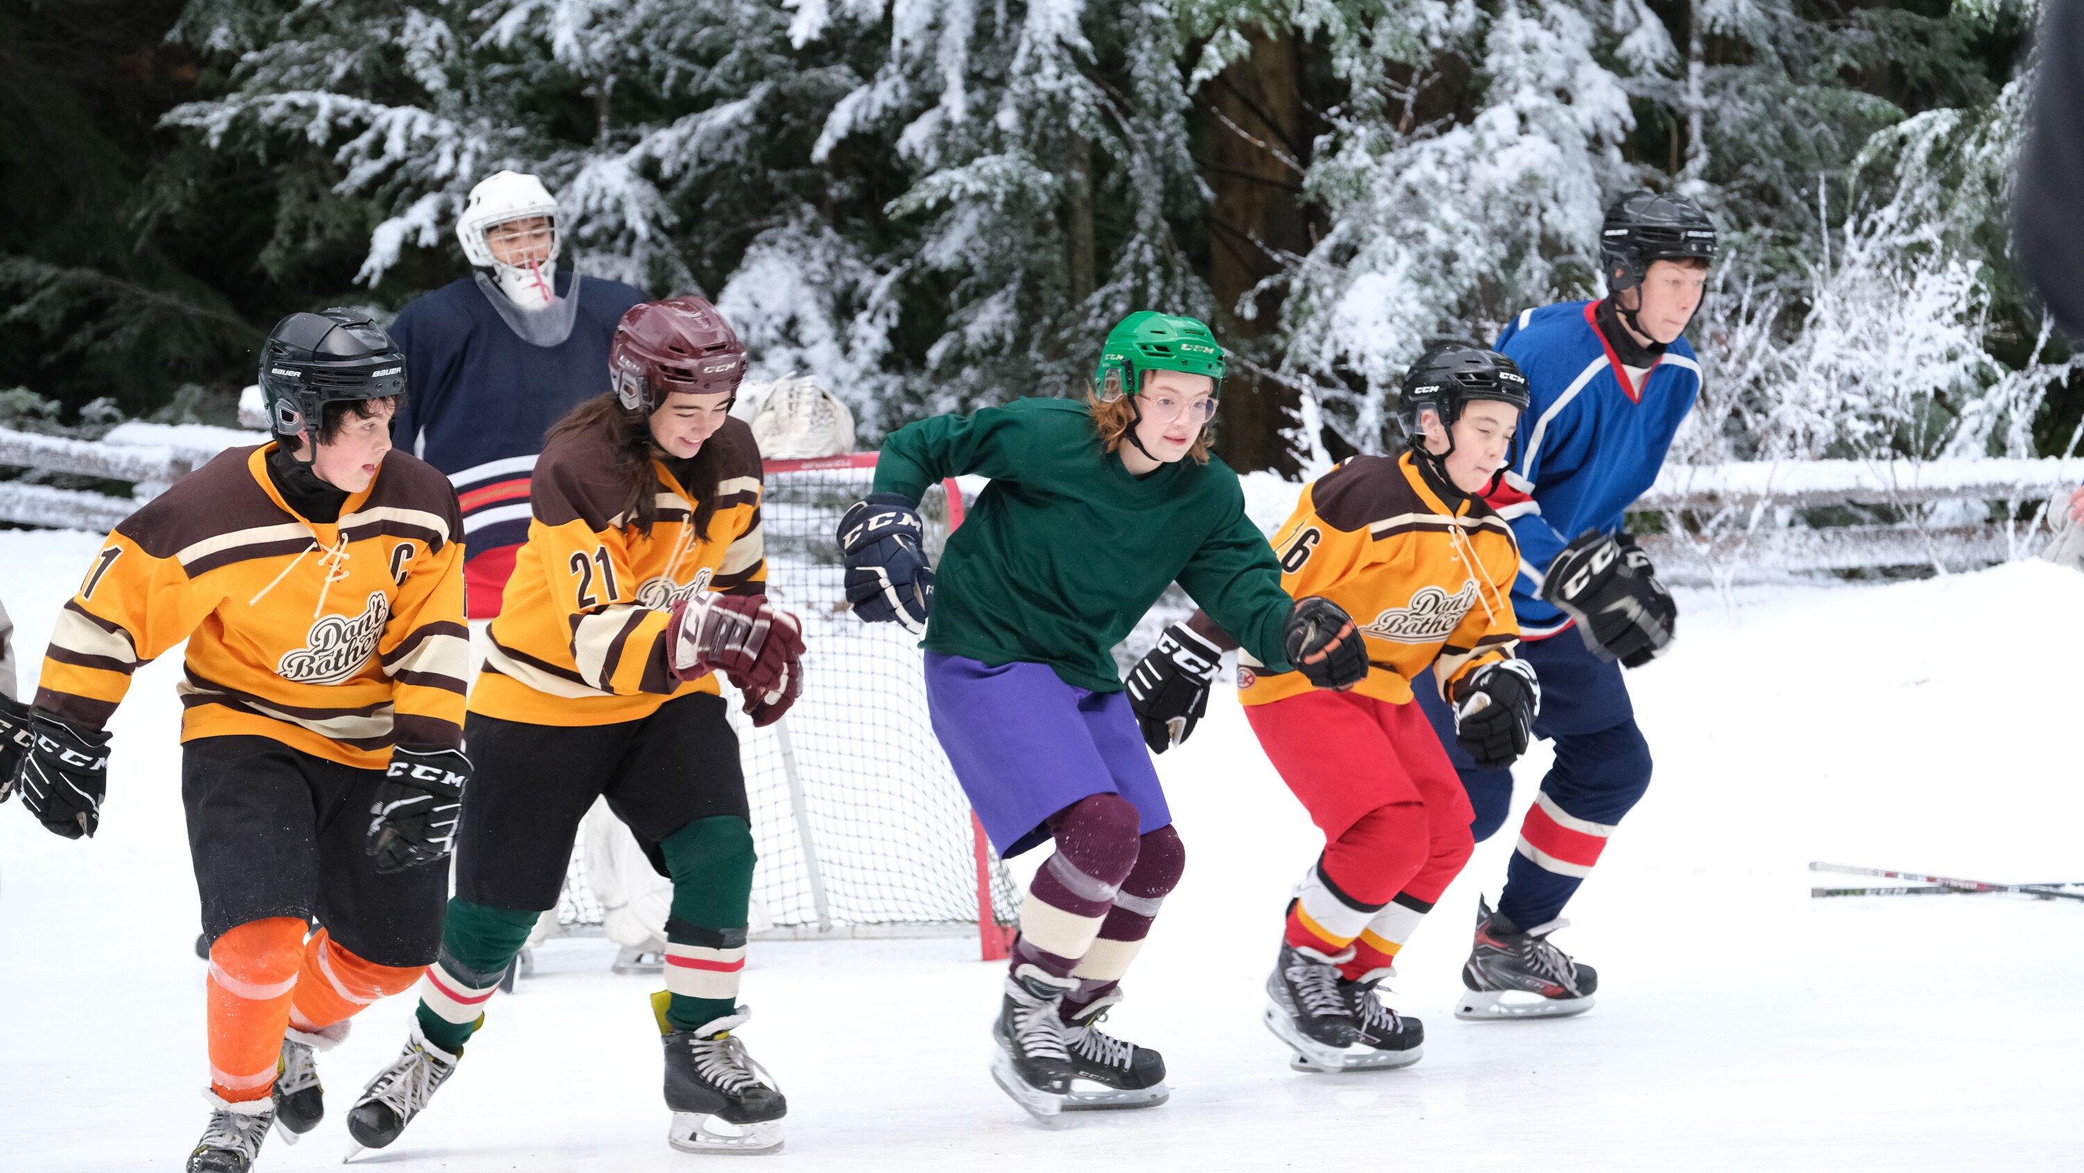
POLYGON ((471 619, 500 613, 515 550, 527 542, 527 488, 542 435, 581 400, 609 390, 609 342, 623 313, 648 300, 600 277, 556 275, 556 294, 579 304, 556 346, 525 342, 473 277, 450 281, 398 310, 404 406, 394 442, 448 475, 463 502, 471 619))

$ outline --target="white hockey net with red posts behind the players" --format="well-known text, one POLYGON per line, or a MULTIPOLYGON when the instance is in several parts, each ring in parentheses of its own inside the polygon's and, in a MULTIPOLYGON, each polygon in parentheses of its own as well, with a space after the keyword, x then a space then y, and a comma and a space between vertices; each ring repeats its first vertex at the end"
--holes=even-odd
MULTIPOLYGON (((802 619, 807 650, 802 698, 788 717, 754 729, 731 706, 759 848, 752 929, 977 931, 986 956, 1004 956, 1019 894, 934 738, 917 638, 848 613, 834 533, 873 475, 873 452, 767 463, 767 592, 802 619)), ((932 488, 919 513, 927 556, 940 560, 950 523, 961 523, 954 483, 932 488)), ((586 883, 584 838, 556 917, 579 933, 604 919, 586 883)))

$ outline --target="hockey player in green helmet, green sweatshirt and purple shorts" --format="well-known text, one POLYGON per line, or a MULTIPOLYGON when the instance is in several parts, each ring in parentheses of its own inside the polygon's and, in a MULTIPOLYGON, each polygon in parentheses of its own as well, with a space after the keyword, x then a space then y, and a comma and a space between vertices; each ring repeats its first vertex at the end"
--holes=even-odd
POLYGON ((1177 579, 1269 673, 1321 688, 1367 673, 1346 613, 1282 590, 1236 473, 1209 454, 1223 385, 1209 327, 1130 315, 1094 385, 1088 402, 1025 398, 898 429, 875 492, 840 523, 854 610, 925 633, 934 733, 992 844, 1015 856, 1057 840, 992 1031, 992 1077, 1038 1117, 1167 1096, 1163 1058, 1096 1025, 1186 863, 1109 648, 1177 579), (917 502, 965 473, 992 483, 936 588, 917 502))

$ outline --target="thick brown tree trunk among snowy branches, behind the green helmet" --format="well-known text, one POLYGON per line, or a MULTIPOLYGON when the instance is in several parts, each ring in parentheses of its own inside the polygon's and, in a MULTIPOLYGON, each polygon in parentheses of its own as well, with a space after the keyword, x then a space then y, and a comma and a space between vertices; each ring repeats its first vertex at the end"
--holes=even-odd
MULTIPOLYGON (((1294 42, 1257 29, 1248 40, 1250 56, 1196 94, 1207 144, 1200 175, 1215 192, 1209 206, 1209 288, 1219 306, 1217 335, 1238 358, 1273 365, 1280 356, 1263 340, 1280 325, 1282 298, 1277 292, 1246 294, 1280 273, 1286 256, 1311 248, 1300 206, 1311 135, 1302 125, 1294 42)), ((1234 358, 1219 419, 1215 448, 1238 471, 1292 475, 1298 469, 1282 438, 1282 429, 1296 423, 1292 388, 1252 375, 1234 358)))

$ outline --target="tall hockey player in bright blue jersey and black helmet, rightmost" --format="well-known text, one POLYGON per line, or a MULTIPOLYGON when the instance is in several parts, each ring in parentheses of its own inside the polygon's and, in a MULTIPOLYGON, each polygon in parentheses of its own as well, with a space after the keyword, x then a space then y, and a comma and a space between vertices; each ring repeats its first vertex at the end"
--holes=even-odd
MULTIPOLYGON (((1701 365, 1682 333, 1713 254, 1715 225, 1692 200, 1628 194, 1601 229, 1607 298, 1528 310, 1498 333, 1532 400, 1511 467, 1486 500, 1519 538, 1519 656, 1542 681, 1534 733, 1555 740, 1555 765, 1519 825, 1496 913, 1478 906, 1461 973, 1467 990, 1455 1008, 1463 1019, 1592 1006, 1598 975, 1548 935, 1651 783, 1651 748, 1621 667, 1665 648, 1678 606, 1621 521, 1657 481, 1701 392, 1701 365)), ((1434 690, 1417 694, 1450 742, 1453 708, 1434 690)), ((1505 823, 1513 775, 1453 744, 1448 756, 1469 790, 1475 838, 1488 840, 1505 823)))

